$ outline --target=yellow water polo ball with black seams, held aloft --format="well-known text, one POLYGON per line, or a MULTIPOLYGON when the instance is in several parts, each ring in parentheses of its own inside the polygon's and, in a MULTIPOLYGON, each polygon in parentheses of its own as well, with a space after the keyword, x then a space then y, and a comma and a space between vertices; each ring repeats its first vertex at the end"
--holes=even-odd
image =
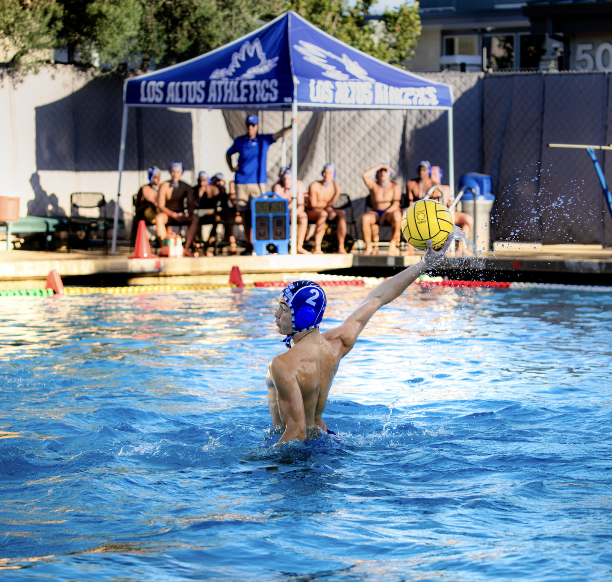
POLYGON ((427 249, 427 240, 431 239, 434 250, 438 251, 453 232, 453 217, 436 200, 417 200, 404 213, 401 230, 414 248, 427 249))

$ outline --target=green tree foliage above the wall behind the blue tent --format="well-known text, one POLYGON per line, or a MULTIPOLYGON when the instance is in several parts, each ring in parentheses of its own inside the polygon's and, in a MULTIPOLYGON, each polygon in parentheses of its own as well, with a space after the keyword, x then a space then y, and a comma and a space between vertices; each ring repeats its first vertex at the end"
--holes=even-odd
POLYGON ((376 0, 0 0, 0 34, 13 70, 33 70, 65 48, 68 61, 124 73, 185 61, 287 9, 349 45, 402 66, 419 39, 418 3, 368 20, 376 0))

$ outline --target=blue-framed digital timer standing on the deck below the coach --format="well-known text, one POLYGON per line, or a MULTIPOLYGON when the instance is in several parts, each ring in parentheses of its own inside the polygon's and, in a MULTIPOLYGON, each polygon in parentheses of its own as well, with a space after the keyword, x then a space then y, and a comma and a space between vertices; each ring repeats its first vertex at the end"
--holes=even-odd
POLYGON ((289 254, 288 200, 268 192, 251 200, 251 226, 255 254, 289 254))

